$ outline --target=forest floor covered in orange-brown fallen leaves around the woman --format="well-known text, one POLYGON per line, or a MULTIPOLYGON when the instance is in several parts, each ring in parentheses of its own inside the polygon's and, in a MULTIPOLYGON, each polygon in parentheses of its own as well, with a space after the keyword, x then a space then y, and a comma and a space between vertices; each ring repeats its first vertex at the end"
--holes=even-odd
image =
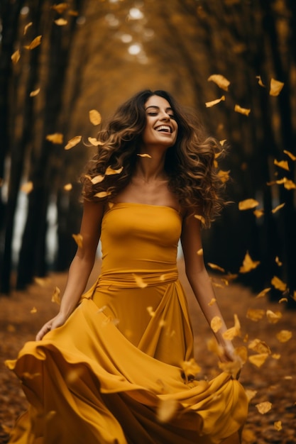
MULTIPOLYGON (((208 378, 218 374, 219 367, 214 353, 207 349, 207 340, 212 338, 209 326, 197 307, 190 286, 185 279, 184 264, 179 263, 180 280, 187 293, 195 337, 195 359, 208 378)), ((89 282, 94 282, 99 272, 99 262, 89 282)), ((0 443, 8 442, 9 430, 16 417, 26 409, 26 399, 21 385, 13 372, 6 369, 4 360, 14 359, 27 340, 45 321, 57 312, 57 304, 51 301, 53 289, 65 287, 66 274, 51 274, 47 279, 31 285, 26 292, 12 292, 11 296, 0 297, 0 443)), ((219 279, 214 277, 214 281, 219 279)), ((236 346, 248 347, 251 340, 260 339, 270 348, 271 354, 261 367, 246 362, 241 370, 240 381, 254 396, 246 427, 243 444, 296 444, 296 335, 295 311, 285 310, 285 302, 270 302, 268 296, 256 298, 246 287, 230 284, 216 288, 216 298, 229 327, 234 325, 234 313, 241 322, 242 338, 235 339, 236 346), (248 309, 280 311, 283 316, 278 323, 268 322, 267 316, 252 321, 246 317, 248 309), (292 331, 292 338, 283 343, 276 338, 280 331, 292 331), (271 409, 261 414, 258 404, 269 402, 271 409)), ((263 313, 262 311, 262 313, 263 313)), ((248 350, 250 351, 250 350, 248 350)), ((250 354, 252 354, 251 352, 250 354)), ((265 404, 263 404, 265 405, 265 404)))

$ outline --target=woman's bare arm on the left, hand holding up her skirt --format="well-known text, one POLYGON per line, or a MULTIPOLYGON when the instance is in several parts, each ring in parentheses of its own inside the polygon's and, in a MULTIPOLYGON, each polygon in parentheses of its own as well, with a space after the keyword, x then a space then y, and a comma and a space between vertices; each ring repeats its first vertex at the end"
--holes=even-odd
POLYGON ((104 204, 84 201, 80 228, 82 247, 77 248, 75 257, 70 265, 60 311, 57 313, 57 316, 44 324, 36 335, 36 340, 42 339, 48 331, 62 326, 76 308, 94 266, 97 245, 101 234, 103 213, 104 204))

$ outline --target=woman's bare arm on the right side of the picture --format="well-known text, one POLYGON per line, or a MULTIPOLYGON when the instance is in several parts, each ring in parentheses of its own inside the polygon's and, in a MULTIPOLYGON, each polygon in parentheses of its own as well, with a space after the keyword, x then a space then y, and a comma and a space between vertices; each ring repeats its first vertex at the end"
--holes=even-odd
POLYGON ((182 226, 182 249, 185 259, 185 270, 187 279, 190 282, 194 296, 196 297, 202 312, 209 325, 214 316, 219 316, 222 321, 222 326, 218 332, 214 333, 216 340, 224 350, 222 360, 234 360, 234 346, 230 340, 223 338, 223 333, 227 330, 224 319, 221 315, 216 301, 212 304, 212 299, 215 299, 212 282, 209 279, 209 274, 204 267, 203 255, 197 255, 197 251, 202 248, 200 221, 194 216, 184 218, 182 226), (209 304, 211 302, 211 304, 209 304))

